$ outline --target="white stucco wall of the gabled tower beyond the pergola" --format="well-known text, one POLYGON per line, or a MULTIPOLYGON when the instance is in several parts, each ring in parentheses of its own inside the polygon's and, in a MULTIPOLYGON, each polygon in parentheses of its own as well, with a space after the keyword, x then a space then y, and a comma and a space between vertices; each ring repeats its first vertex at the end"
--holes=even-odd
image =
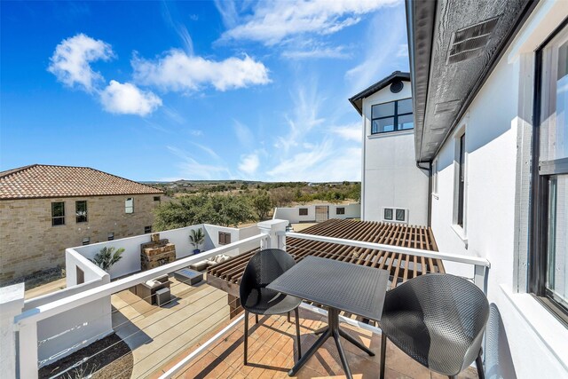
POLYGON ((414 130, 371 135, 371 107, 412 97, 410 82, 390 86, 363 99, 361 217, 383 221, 383 208, 408 209, 410 225, 428 225, 428 174, 416 167, 414 130))

